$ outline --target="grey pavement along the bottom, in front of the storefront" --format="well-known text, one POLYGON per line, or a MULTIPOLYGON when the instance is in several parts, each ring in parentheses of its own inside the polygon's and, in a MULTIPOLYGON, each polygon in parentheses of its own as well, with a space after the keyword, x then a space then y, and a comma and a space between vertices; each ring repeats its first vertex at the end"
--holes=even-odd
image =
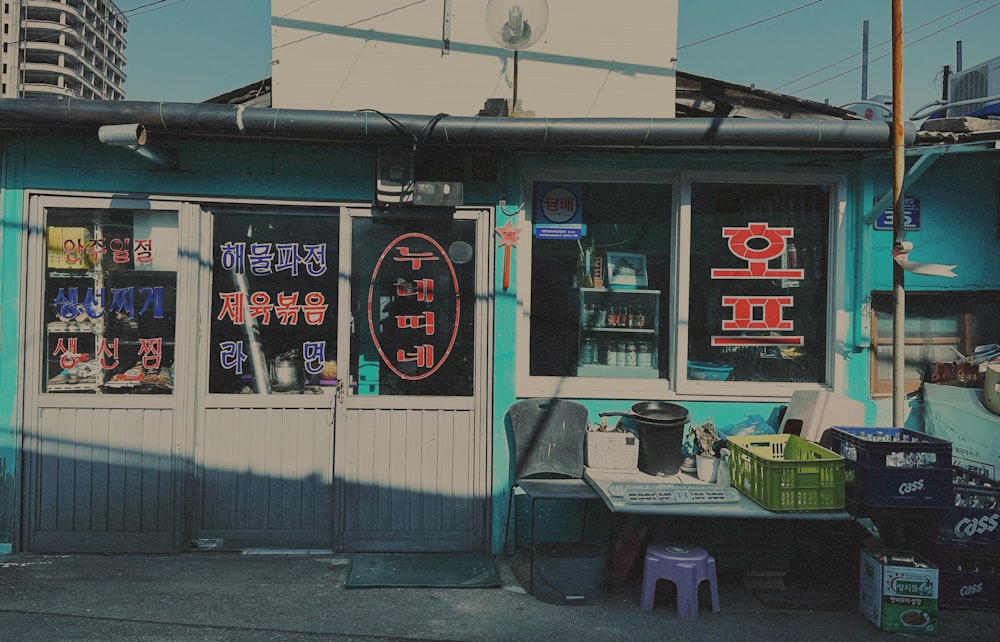
MULTIPOLYGON (((722 610, 677 619, 669 586, 633 578, 596 605, 527 595, 504 557, 495 589, 345 589, 350 556, 239 553, 0 556, 0 639, 662 641, 899 639, 856 610, 765 608, 736 575, 722 610), (661 595, 663 593, 663 595, 661 595)), ((1000 614, 942 611, 939 640, 993 639, 1000 614)), ((926 638, 925 638, 926 639, 926 638)))

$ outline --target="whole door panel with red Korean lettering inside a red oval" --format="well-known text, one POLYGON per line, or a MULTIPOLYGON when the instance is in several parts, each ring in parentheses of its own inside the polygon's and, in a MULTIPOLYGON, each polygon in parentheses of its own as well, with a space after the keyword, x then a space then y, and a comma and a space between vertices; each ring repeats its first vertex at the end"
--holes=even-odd
POLYGON ((350 346, 352 386, 335 459, 342 546, 487 550, 488 213, 351 216, 341 314, 352 323, 339 343, 350 346))

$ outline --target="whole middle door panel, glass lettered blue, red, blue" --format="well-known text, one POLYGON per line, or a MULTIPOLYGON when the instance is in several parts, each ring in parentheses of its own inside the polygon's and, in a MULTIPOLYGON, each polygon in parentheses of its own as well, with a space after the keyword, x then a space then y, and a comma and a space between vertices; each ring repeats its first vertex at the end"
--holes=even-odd
POLYGON ((203 225, 196 544, 335 547, 339 208, 216 204, 203 225))

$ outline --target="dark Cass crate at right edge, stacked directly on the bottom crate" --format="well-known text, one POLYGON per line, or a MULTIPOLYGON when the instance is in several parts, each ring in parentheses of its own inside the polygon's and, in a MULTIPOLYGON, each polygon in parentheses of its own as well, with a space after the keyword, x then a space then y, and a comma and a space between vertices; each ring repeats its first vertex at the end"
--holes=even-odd
POLYGON ((1000 482, 965 468, 952 469, 953 505, 942 511, 942 542, 1000 547, 1000 482))

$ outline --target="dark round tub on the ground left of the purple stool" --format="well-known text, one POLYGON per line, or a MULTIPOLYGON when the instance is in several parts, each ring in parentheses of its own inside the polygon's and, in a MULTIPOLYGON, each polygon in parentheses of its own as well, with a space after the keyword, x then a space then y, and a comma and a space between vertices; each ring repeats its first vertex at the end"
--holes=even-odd
POLYGON ((549 604, 598 604, 607 595, 608 550, 590 542, 539 542, 532 595, 549 604))

